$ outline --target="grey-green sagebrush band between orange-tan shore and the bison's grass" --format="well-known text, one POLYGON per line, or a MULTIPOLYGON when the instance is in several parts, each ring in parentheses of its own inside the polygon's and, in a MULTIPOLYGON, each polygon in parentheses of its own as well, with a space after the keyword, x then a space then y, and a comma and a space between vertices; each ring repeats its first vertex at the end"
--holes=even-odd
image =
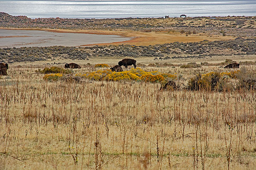
POLYGON ((0 61, 26 62, 57 59, 90 59, 90 57, 156 57, 169 58, 203 58, 220 55, 256 54, 254 38, 227 41, 204 40, 201 42, 174 42, 161 45, 104 45, 92 47, 23 47, 0 48, 0 61))

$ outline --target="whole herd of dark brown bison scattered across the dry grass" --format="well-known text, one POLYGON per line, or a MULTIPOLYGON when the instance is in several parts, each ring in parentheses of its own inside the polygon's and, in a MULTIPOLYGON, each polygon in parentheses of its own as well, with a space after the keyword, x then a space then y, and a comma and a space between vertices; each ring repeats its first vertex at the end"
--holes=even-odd
MULTIPOLYGON (((114 67, 111 67, 111 71, 121 72, 123 71, 121 66, 125 66, 127 68, 128 65, 134 65, 134 68, 136 69, 136 60, 135 59, 122 59, 118 62, 118 65, 115 65, 114 67)), ((0 75, 6 76, 7 70, 9 68, 9 65, 7 63, 0 63, 0 75)), ((81 68, 80 65, 76 63, 67 63, 65 64, 64 68, 81 68)), ((229 65, 226 65, 224 68, 239 68, 239 63, 231 63, 229 65)))

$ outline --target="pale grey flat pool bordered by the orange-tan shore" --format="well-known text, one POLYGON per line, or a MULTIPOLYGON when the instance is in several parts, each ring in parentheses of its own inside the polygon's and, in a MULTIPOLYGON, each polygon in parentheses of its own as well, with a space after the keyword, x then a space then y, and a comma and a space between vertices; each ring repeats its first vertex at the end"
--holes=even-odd
POLYGON ((44 47, 53 45, 79 46, 126 40, 131 40, 131 38, 119 37, 117 35, 56 33, 36 30, 0 29, 0 48, 44 47))

